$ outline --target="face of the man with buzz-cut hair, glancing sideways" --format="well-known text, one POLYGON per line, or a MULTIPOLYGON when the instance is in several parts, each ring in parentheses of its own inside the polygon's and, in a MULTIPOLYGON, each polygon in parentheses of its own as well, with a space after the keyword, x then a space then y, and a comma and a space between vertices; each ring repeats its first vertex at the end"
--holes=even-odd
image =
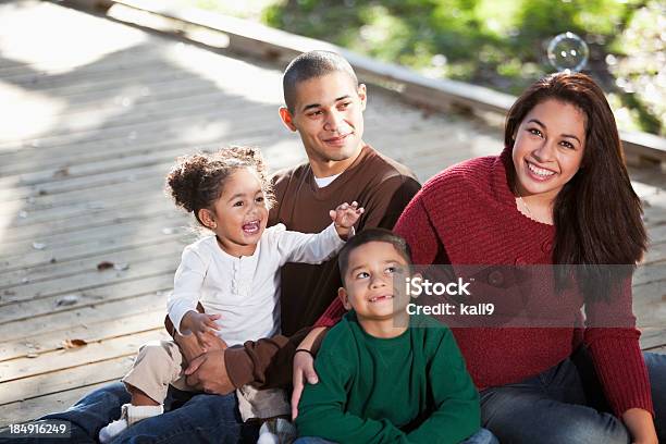
POLYGON ((366 86, 335 71, 296 85, 293 113, 280 110, 284 123, 298 131, 310 161, 355 159, 362 147, 366 86))

